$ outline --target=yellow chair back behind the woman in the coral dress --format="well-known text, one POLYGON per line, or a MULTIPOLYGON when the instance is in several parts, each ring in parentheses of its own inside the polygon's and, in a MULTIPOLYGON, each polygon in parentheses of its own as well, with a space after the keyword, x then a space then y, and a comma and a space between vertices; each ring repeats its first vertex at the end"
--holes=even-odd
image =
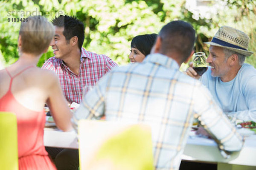
POLYGON ((18 170, 16 115, 0 112, 0 170, 18 170))

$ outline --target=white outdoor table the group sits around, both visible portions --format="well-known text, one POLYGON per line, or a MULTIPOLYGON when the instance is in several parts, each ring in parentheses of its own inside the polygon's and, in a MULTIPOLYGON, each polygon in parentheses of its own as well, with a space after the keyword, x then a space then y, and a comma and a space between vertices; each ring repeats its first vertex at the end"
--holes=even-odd
MULTIPOLYGON (((55 128, 44 128, 44 145, 47 147, 63 147, 78 149, 76 132, 63 132, 55 128)), ((245 138, 240 152, 224 159, 212 139, 190 136, 182 155, 183 160, 195 162, 217 163, 218 170, 255 170, 256 169, 256 135, 245 138), (250 166, 250 167, 248 167, 250 166), (255 166, 255 167, 252 167, 255 166)))

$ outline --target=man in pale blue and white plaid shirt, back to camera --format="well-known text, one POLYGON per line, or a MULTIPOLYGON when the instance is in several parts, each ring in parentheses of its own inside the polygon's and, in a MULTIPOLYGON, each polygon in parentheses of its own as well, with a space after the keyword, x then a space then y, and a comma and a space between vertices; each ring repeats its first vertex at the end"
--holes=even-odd
POLYGON ((73 115, 79 119, 151 125, 156 170, 178 170, 194 116, 221 150, 242 147, 242 137, 201 84, 179 71, 193 54, 195 30, 184 21, 164 26, 142 63, 114 68, 84 96, 73 115), (218 120, 218 121, 217 121, 218 120))

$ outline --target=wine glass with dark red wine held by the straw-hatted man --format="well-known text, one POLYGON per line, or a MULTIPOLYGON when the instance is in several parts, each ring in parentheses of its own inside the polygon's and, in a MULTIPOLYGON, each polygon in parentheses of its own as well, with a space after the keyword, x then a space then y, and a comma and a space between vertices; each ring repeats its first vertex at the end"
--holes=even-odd
POLYGON ((202 76, 207 71, 208 64, 204 52, 197 52, 193 54, 193 69, 199 76, 202 76))

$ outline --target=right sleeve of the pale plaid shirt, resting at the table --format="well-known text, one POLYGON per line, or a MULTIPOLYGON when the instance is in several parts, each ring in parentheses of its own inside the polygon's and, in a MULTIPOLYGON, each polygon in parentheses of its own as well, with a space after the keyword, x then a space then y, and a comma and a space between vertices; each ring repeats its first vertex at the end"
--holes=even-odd
POLYGON ((199 123, 217 142, 221 150, 241 150, 243 139, 236 131, 221 108, 215 103, 212 95, 204 85, 195 87, 194 91, 195 117, 199 123))

